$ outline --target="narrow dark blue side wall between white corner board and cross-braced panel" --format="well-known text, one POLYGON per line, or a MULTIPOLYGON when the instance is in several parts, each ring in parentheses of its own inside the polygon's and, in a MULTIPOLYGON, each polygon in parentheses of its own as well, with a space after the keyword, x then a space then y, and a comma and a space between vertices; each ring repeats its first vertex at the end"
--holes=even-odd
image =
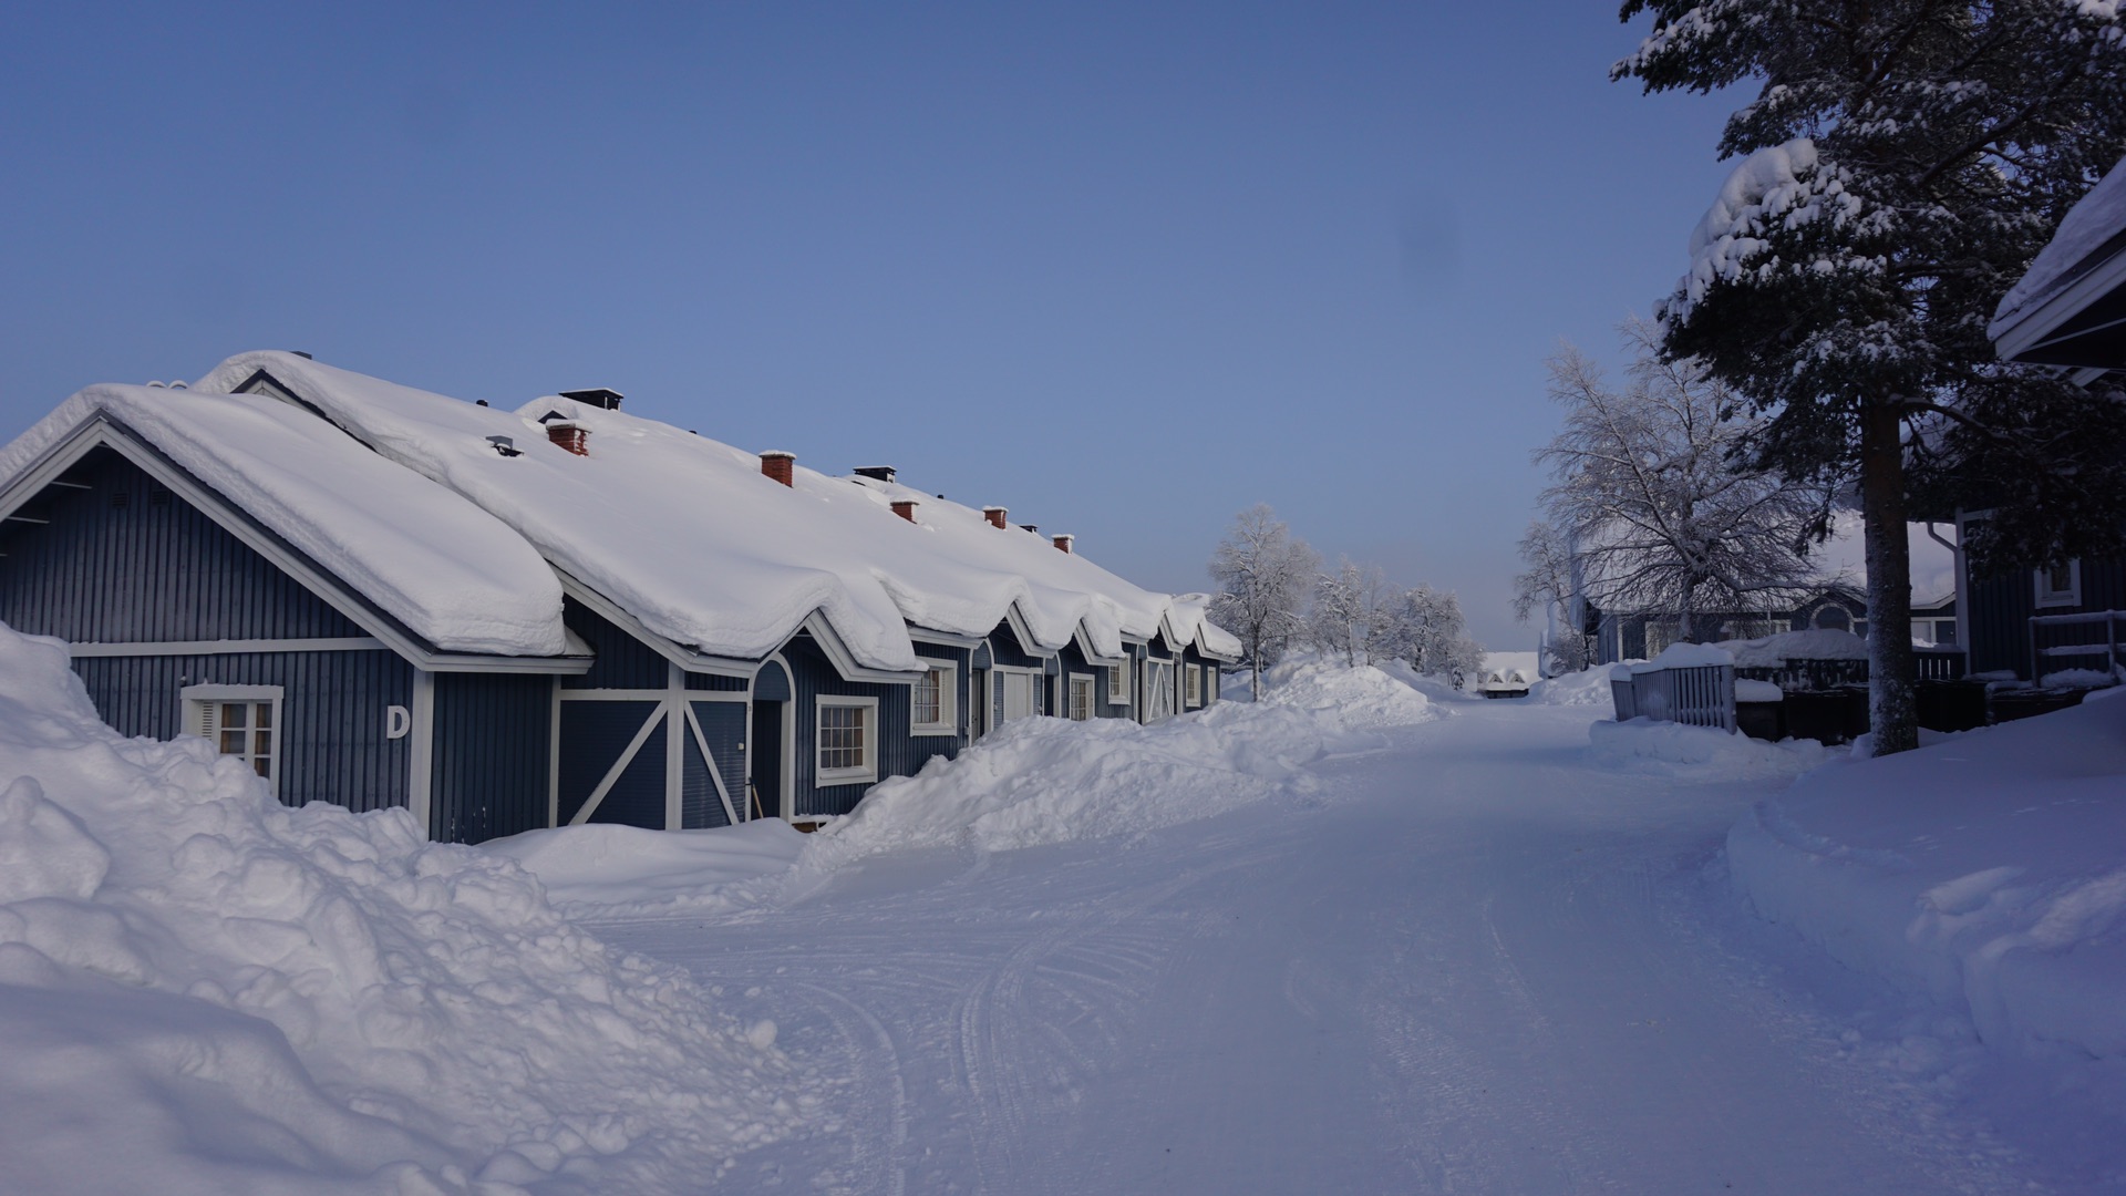
POLYGON ((546 826, 553 677, 438 672, 429 836, 483 843, 546 826))

